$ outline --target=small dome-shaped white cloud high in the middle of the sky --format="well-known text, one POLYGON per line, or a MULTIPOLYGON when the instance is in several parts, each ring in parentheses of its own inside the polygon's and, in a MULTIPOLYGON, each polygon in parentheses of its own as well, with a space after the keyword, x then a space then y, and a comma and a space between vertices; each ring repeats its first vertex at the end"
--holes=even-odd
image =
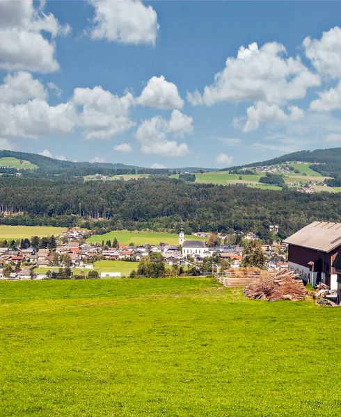
POLYGON ((164 76, 153 76, 143 88, 138 104, 154 108, 182 108, 184 101, 174 83, 166 81, 164 76))

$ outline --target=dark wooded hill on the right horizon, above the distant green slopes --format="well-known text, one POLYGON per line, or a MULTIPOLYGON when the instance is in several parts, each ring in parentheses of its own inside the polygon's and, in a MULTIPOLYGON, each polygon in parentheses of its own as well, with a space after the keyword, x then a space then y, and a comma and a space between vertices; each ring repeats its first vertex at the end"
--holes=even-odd
POLYGON ((325 177, 338 177, 341 174, 341 147, 329 149, 315 149, 315 151, 299 151, 292 154, 278 156, 278 158, 267 161, 240 165, 238 167, 229 167, 224 170, 238 170, 241 167, 256 167, 264 165, 277 165, 287 161, 302 161, 312 163, 312 170, 319 172, 325 177))

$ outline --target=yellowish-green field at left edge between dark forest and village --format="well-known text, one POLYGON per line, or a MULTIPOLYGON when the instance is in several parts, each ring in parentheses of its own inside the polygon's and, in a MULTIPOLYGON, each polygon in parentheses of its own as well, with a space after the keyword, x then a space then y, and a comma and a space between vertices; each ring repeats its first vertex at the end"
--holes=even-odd
POLYGON ((0 240, 24 239, 32 236, 59 236, 66 231, 66 227, 47 227, 47 226, 6 226, 0 225, 0 240))

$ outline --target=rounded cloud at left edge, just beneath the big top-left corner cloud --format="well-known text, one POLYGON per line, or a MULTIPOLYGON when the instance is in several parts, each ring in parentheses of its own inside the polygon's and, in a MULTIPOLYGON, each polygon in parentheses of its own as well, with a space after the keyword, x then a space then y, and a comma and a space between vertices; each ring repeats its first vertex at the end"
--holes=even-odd
POLYGON ((0 85, 0 102, 8 104, 23 103, 29 99, 42 99, 47 96, 40 81, 33 79, 29 72, 8 74, 0 85))

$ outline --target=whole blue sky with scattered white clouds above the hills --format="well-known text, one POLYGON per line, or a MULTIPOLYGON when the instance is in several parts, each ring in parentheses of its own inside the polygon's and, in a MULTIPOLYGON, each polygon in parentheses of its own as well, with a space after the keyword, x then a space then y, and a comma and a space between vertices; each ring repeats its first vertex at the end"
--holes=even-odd
POLYGON ((0 149, 223 168, 341 147, 340 12, 0 0, 0 149))

